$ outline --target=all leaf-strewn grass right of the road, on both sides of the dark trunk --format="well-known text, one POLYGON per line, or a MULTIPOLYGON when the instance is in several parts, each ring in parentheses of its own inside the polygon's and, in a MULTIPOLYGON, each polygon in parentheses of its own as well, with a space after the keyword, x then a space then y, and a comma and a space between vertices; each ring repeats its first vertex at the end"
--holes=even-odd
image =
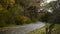
MULTIPOLYGON (((47 23, 46 26, 33 30, 27 34, 45 34, 45 27, 49 27, 50 23, 47 23)), ((55 24, 54 28, 52 29, 51 34, 60 34, 60 24, 55 24)))

